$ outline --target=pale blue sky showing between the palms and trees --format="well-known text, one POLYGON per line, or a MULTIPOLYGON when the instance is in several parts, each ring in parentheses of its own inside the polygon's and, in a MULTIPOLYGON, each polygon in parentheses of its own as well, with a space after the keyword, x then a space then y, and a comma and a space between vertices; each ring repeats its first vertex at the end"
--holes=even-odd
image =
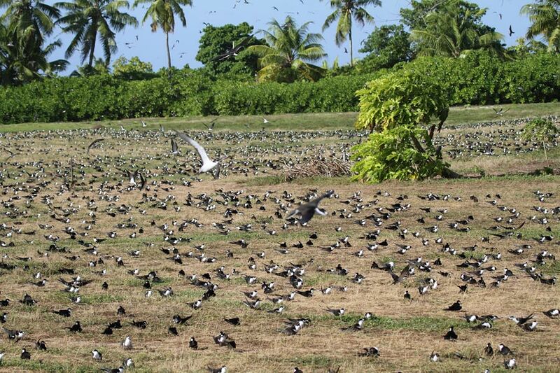
MULTIPOLYGON (((328 61, 332 62, 337 56, 340 64, 349 62, 349 54, 344 53, 344 45, 337 47, 335 44, 335 24, 324 32, 321 27, 325 17, 332 11, 330 9, 330 1, 328 0, 248 0, 248 4, 241 0, 234 8, 236 0, 193 0, 193 7, 185 8, 187 27, 176 27, 175 33, 170 36, 170 44, 172 47, 172 64, 176 67, 183 67, 189 64, 191 67, 202 66, 200 62, 195 60, 198 50, 198 41, 200 39, 200 30, 204 27, 202 22, 208 22, 214 26, 232 23, 239 24, 248 22, 258 29, 266 29, 267 22, 276 18, 283 20, 288 14, 292 15, 298 24, 312 21, 310 31, 322 33, 324 37, 323 46, 328 53, 328 61), (302 3, 303 1, 303 3, 302 3), (278 10, 273 7, 278 8, 278 10)), ((472 0, 471 0, 472 1, 472 0)), ((46 0, 47 3, 55 1, 46 0)), ((482 8, 488 8, 484 22, 496 27, 496 30, 505 35, 505 43, 514 45, 515 40, 523 36, 528 25, 527 17, 519 15, 519 9, 531 0, 475 0, 482 8), (502 15, 500 20, 499 14, 502 15), (508 35, 508 27, 512 25, 515 34, 511 37, 508 35)), ((130 1, 131 5, 133 1, 130 1)), ((371 15, 375 18, 374 24, 366 24, 361 28, 355 26, 354 35, 354 56, 360 57, 356 51, 359 48, 360 41, 367 37, 375 26, 383 24, 397 23, 399 19, 399 9, 409 6, 408 0, 382 0, 381 7, 368 8, 371 15)), ((131 9, 129 13, 134 15, 140 21, 146 11, 146 6, 142 8, 131 9)), ((138 56, 142 61, 151 62, 155 70, 167 65, 167 57, 165 54, 165 34, 158 30, 151 32, 150 22, 140 24, 138 28, 129 27, 118 34, 116 40, 118 43, 118 52, 112 57, 114 59, 120 56, 127 58, 138 56), (136 38, 138 36, 138 40, 136 38), (129 44, 125 44, 129 43, 129 44)), ((60 30, 55 31, 54 36, 62 39, 63 48, 59 48, 52 57, 64 58, 64 50, 71 40, 68 34, 60 34, 60 30)), ((102 57, 102 50, 96 50, 96 57, 102 57)), ((80 65, 78 53, 69 59, 70 66, 66 73, 70 73, 80 65)))

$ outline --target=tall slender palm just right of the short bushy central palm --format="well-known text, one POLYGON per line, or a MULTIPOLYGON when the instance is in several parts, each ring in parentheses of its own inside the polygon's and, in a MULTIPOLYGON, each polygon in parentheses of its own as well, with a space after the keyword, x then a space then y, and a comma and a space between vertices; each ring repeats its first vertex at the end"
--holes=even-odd
MULTIPOLYGON (((321 0, 322 1, 322 0, 321 0)), ((330 0, 330 7, 334 8, 323 24, 323 31, 338 20, 335 42, 341 45, 349 38, 350 66, 353 66, 352 20, 356 20, 362 27, 365 22, 373 23, 373 17, 365 10, 366 6, 381 6, 381 0, 330 0)))

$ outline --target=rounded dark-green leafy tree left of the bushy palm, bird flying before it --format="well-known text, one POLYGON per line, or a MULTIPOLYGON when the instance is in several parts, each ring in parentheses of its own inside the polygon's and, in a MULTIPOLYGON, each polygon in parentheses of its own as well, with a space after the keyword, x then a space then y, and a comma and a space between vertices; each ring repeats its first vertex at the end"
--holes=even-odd
MULTIPOLYGON (((204 34, 200 38, 197 61, 200 61, 214 75, 230 73, 231 75, 247 74, 253 76, 258 70, 258 55, 244 48, 239 55, 224 59, 222 61, 215 60, 215 57, 221 55, 225 50, 237 45, 248 36, 253 34, 253 26, 247 22, 240 24, 225 24, 220 27, 214 27, 211 24, 204 27, 204 34)), ((262 45, 265 42, 258 38, 251 38, 246 46, 262 45)))

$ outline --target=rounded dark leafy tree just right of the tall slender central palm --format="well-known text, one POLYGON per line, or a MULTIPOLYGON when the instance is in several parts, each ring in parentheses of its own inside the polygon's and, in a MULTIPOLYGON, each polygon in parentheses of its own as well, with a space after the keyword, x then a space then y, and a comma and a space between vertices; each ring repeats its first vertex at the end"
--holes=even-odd
POLYGON ((388 69, 398 62, 410 61, 412 49, 409 36, 402 24, 375 27, 359 50, 361 53, 368 53, 360 64, 371 70, 378 70, 388 69))

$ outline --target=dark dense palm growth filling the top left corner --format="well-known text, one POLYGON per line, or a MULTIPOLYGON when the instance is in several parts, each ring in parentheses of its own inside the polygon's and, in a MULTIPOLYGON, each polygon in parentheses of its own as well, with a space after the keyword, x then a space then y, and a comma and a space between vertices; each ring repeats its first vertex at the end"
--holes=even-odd
POLYGON ((45 37, 52 34, 54 19, 59 17, 57 8, 35 0, 0 0, 2 6, 7 6, 0 17, 2 83, 24 83, 64 70, 65 60, 48 61, 61 42, 45 45, 45 37))

